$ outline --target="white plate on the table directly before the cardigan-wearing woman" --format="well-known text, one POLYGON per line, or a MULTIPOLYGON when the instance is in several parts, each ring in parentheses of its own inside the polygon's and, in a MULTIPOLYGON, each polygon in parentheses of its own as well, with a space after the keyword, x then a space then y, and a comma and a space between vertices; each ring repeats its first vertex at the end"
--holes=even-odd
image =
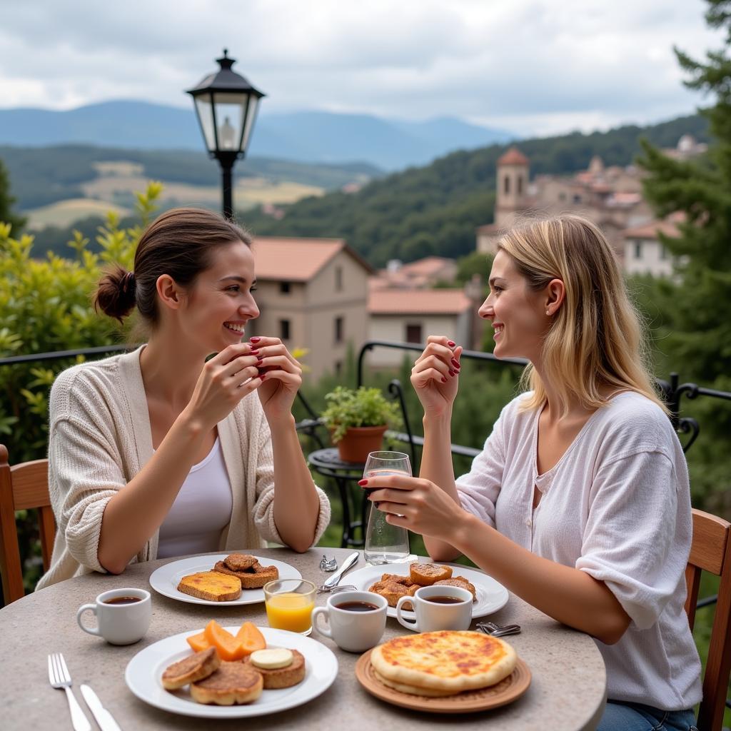
MULTIPOLYGON (((253 554, 249 554, 253 555, 253 554)), ((211 571, 216 561, 223 561, 230 553, 213 553, 208 556, 192 556, 192 558, 181 558, 170 564, 155 569, 150 576, 150 586, 162 596, 170 596, 170 599, 178 599, 178 602, 188 604, 207 604, 212 607, 235 607, 242 604, 259 604, 264 601, 263 589, 242 589, 241 596, 232 602, 211 602, 211 599, 198 599, 197 596, 183 594, 178 591, 178 583, 189 574, 199 571, 211 571)), ((273 558, 256 557, 262 566, 276 566, 279 570, 280 579, 301 579, 302 574, 297 569, 284 561, 275 561, 273 558)))

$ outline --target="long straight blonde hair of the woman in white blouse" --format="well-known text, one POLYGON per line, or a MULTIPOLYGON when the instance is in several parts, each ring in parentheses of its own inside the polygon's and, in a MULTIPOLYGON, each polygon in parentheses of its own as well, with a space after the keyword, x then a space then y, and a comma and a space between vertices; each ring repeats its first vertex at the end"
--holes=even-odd
MULTIPOLYGON (((556 216, 508 231, 498 249, 531 289, 543 289, 552 279, 566 287, 542 349, 542 373, 558 391, 561 414, 567 414, 570 396, 587 409, 605 406, 607 386, 613 393, 641 393, 668 413, 652 386, 640 317, 599 228, 581 216, 556 216)), ((533 391, 524 409, 546 403, 543 381, 530 363, 521 385, 533 391)))

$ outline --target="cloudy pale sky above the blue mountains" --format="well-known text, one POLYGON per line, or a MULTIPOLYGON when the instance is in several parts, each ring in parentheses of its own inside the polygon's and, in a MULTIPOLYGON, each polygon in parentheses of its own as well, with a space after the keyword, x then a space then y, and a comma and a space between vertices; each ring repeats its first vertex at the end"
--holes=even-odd
POLYGON ((521 135, 692 113, 673 45, 721 46, 703 0, 0 0, 0 107, 187 106, 216 68, 260 113, 452 115, 521 135))

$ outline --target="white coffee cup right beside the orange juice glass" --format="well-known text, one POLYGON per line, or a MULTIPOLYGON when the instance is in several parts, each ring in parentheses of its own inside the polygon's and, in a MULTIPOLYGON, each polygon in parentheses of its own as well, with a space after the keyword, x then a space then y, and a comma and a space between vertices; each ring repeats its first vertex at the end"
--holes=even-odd
POLYGON ((327 597, 325 607, 315 607, 312 612, 312 626, 320 635, 330 637, 341 650, 347 652, 365 652, 377 645, 386 629, 386 610, 388 602, 385 596, 373 594, 371 591, 338 591, 327 597), (357 603, 372 605, 371 610, 356 610, 357 603), (343 608, 351 605, 351 608, 343 608), (320 615, 327 618, 326 626, 317 621, 320 615))

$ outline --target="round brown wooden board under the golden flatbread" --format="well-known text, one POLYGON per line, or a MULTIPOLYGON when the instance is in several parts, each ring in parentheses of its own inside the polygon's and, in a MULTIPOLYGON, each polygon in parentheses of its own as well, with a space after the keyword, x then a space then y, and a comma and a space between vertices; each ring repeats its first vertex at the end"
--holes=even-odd
POLYGON ((531 684, 531 671, 523 660, 518 658, 515 670, 496 685, 477 690, 466 690, 455 695, 431 698, 423 695, 402 693, 384 685, 374 673, 371 665, 371 652, 364 653, 355 664, 355 677, 369 693, 386 702, 413 708, 427 713, 471 713, 497 708, 519 698, 531 684))

